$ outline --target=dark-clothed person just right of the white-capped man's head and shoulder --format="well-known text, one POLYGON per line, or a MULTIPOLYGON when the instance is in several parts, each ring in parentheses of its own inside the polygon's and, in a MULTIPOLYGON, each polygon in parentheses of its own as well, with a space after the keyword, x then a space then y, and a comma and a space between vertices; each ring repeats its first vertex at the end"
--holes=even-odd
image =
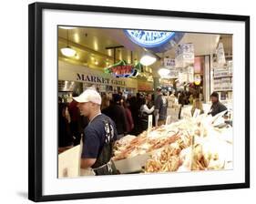
POLYGON ((120 106, 120 101, 121 96, 113 94, 110 106, 102 110, 102 113, 115 122, 118 130, 118 139, 123 138, 127 133, 127 117, 124 108, 120 106))

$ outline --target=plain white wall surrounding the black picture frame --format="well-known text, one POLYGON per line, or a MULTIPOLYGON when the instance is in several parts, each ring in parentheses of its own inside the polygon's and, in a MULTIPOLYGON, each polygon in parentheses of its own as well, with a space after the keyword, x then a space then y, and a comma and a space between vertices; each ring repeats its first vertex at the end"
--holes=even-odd
MULTIPOLYGON (((39 1, 39 0, 38 0, 39 1)), ((58 3, 113 5, 178 11, 251 15, 251 90, 255 87, 255 9, 252 1, 210 2, 138 1, 138 0, 62 0, 58 3), (252 57, 253 56, 253 57, 252 57)), ((32 203, 27 196, 27 4, 32 1, 5 1, 1 4, 1 203, 32 203), (4 114, 3 114, 4 113, 4 114), (10 201, 8 201, 10 200, 10 201)), ((251 95, 251 105, 255 103, 251 95)), ((255 106, 251 106, 251 124, 255 122, 255 106), (254 113, 254 114, 253 114, 254 113)), ((255 126, 251 126, 251 144, 255 144, 255 126)), ((251 145, 252 146, 252 145, 251 145)), ((255 148, 251 149, 251 189, 179 193, 143 197, 89 199, 54 203, 244 203, 255 198, 255 148)))

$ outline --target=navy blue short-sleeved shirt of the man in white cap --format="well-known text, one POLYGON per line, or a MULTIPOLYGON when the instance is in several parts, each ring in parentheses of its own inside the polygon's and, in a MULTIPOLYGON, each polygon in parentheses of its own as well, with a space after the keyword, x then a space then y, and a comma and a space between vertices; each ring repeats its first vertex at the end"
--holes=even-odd
POLYGON ((113 140, 117 140, 117 129, 113 120, 104 114, 94 117, 85 128, 85 136, 83 138, 83 149, 81 158, 97 158, 106 141, 106 121, 114 130, 111 136, 113 140))

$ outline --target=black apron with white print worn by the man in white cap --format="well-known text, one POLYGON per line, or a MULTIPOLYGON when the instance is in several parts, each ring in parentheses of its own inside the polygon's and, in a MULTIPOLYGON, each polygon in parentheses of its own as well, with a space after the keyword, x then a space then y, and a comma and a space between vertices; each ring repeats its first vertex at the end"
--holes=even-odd
POLYGON ((91 167, 96 175, 113 175, 119 174, 115 164, 111 160, 114 146, 114 128, 110 121, 104 120, 105 124, 105 142, 96 162, 91 167))

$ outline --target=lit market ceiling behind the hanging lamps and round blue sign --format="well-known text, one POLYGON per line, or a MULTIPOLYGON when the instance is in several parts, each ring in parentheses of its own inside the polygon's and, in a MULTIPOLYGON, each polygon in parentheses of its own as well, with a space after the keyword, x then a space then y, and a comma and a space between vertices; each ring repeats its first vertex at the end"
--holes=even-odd
MULTIPOLYGON (((67 46, 68 43, 77 50, 78 59, 76 57, 67 60, 78 64, 84 64, 91 67, 102 68, 113 64, 113 50, 108 50, 108 46, 124 46, 118 48, 116 57, 131 62, 131 51, 133 60, 139 59, 143 54, 143 48, 132 43, 123 33, 122 29, 107 28, 89 28, 80 27, 76 29, 66 30, 58 29, 58 46, 59 48, 67 46), (97 64, 97 65, 96 65, 97 64)), ((195 56, 209 55, 214 52, 218 46, 220 35, 186 33, 180 43, 193 43, 195 47, 195 56)), ((225 51, 231 52, 231 37, 221 36, 225 51)), ((175 49, 171 49, 165 54, 159 56, 175 57, 175 49)), ((59 52, 60 58, 66 58, 59 52)))

